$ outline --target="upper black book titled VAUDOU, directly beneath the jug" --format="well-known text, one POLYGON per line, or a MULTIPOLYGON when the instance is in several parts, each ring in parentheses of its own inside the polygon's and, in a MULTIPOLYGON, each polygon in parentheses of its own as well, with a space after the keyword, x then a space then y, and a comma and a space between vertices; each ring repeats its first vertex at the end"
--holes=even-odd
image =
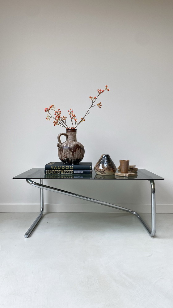
POLYGON ((79 163, 78 165, 65 165, 62 162, 50 162, 45 165, 44 169, 51 170, 92 170, 92 163, 79 163))

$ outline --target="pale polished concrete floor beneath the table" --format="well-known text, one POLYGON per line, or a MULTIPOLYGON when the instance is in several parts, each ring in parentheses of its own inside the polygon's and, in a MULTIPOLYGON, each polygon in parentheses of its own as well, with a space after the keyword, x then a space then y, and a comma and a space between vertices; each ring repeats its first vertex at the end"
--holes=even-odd
POLYGON ((1 308, 172 308, 173 214, 0 214, 1 308), (150 222, 149 214, 142 217, 150 222))

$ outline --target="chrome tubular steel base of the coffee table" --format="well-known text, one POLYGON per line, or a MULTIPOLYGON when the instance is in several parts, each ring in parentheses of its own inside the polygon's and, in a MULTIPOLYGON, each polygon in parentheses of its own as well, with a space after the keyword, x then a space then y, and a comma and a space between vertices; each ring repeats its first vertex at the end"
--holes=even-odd
POLYGON ((107 203, 107 202, 103 202, 103 201, 99 201, 96 199, 92 199, 89 197, 84 197, 75 193, 70 193, 68 191, 62 190, 62 189, 58 189, 58 188, 54 188, 54 187, 50 187, 50 186, 46 186, 43 184, 43 180, 40 180, 40 184, 36 183, 34 181, 32 181, 31 179, 26 179, 27 183, 40 188, 40 214, 38 215, 38 217, 36 218, 36 220, 32 223, 31 227, 28 229, 28 231, 25 233, 25 237, 28 237, 31 232, 33 231, 33 229, 36 227, 36 224, 39 222, 39 220, 41 219, 42 215, 43 215, 43 210, 44 210, 44 201, 43 201, 43 189, 46 190, 50 190, 53 192, 57 192, 57 193, 62 193, 68 196, 72 196, 75 198, 79 198, 79 199, 83 199, 83 200, 87 200, 89 202, 95 202, 98 204, 102 204, 105 206, 109 206, 109 207, 113 207, 114 209, 118 209, 118 210, 122 210, 128 213, 131 213, 135 216, 137 216, 137 218, 141 221, 141 223, 144 225, 144 227, 146 228, 146 230, 148 231, 148 233, 150 234, 150 236, 154 236, 156 233, 156 203, 155 203, 155 184, 154 184, 154 180, 149 180, 150 184, 151 184, 151 229, 149 228, 149 226, 146 224, 146 222, 141 218, 141 216, 130 209, 126 209, 124 207, 121 206, 117 206, 111 203, 107 203))

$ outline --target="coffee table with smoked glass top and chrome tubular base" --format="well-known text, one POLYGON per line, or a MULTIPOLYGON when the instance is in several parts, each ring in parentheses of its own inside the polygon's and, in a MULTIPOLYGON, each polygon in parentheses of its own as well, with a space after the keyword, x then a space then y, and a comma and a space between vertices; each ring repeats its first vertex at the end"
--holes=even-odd
MULTIPOLYGON (((155 183, 154 180, 164 180, 161 176, 158 176, 146 169, 138 169, 137 176, 131 176, 131 177, 121 177, 121 176, 106 176, 106 175, 97 175, 95 171, 93 170, 91 175, 82 175, 82 176, 75 176, 75 175, 70 175, 70 174, 58 174, 58 175, 46 175, 44 174, 44 168, 32 168, 30 170, 27 170, 18 176, 13 177, 13 179, 25 179, 28 184, 31 184, 35 187, 40 188, 40 214, 36 218, 36 220, 32 223, 31 227, 27 230, 25 233, 25 237, 30 236, 31 232, 34 230, 36 227, 36 224, 39 222, 39 220, 43 216, 43 211, 44 211, 44 197, 43 197, 43 191, 44 189, 57 192, 57 193, 62 193, 68 196, 72 196, 75 198, 83 199, 89 202, 95 202, 104 206, 109 206, 114 209, 119 209, 128 213, 131 213, 135 215, 141 223, 144 225, 150 236, 154 236, 156 233, 156 202, 155 202, 155 183), (69 191, 65 191, 62 189, 58 189, 55 187, 51 187, 48 185, 43 184, 43 180, 82 180, 84 181, 84 184, 87 185, 86 181, 89 180, 126 180, 126 181, 137 181, 137 180, 148 180, 151 185, 151 228, 147 225, 147 223, 141 218, 141 216, 128 208, 124 208, 121 206, 117 206, 108 202, 103 202, 100 200, 96 200, 90 197, 85 197, 76 193, 71 193, 69 191), (37 183, 35 180, 40 180, 40 183, 37 183)), ((107 182, 105 182, 107 183, 107 182)), ((94 182, 93 182, 94 184, 94 182)), ((142 184, 142 183, 141 183, 142 184)))

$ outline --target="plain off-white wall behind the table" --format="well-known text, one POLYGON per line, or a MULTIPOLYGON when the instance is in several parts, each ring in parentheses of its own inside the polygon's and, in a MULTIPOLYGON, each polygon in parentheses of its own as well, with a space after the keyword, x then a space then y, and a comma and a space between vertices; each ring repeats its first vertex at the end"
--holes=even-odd
MULTIPOLYGON (((173 210, 173 2, 169 0, 1 1, 1 211, 38 211, 40 192, 12 177, 57 161, 57 135, 45 120, 55 104, 78 118, 107 84, 102 108, 78 126, 83 161, 130 159, 156 181, 158 212, 173 210), (37 206, 35 206, 37 204, 37 206), (26 206, 28 205, 28 206, 26 206)), ((50 182, 49 182, 50 183, 50 182)), ((145 181, 65 181, 60 187, 115 204, 150 207, 145 181)), ((57 185, 57 181, 52 182, 57 185)), ((45 192, 51 211, 114 211, 45 192), (70 204, 73 204, 72 206, 70 204), (54 206, 59 204, 59 206, 54 206)))

